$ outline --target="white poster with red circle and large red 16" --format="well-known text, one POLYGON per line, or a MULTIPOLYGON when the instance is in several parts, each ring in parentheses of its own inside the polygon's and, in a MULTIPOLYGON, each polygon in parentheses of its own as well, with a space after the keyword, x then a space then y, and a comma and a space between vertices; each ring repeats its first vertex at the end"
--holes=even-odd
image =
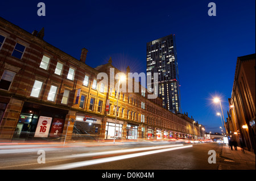
POLYGON ((40 116, 34 137, 42 137, 42 138, 48 137, 51 123, 52 123, 52 117, 40 116))

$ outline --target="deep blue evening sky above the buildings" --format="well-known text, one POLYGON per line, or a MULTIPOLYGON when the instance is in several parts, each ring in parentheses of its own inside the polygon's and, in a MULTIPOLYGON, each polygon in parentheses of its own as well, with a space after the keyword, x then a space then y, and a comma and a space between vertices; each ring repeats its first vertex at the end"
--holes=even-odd
POLYGON ((238 56, 255 53, 254 0, 183 1, 1 1, 0 16, 28 32, 45 28, 44 40, 79 59, 89 50, 93 68, 112 57, 119 69, 146 73, 146 43, 175 34, 181 109, 220 132, 221 96, 225 120, 238 56), (38 16, 38 3, 46 16, 38 16), (217 16, 208 16, 208 3, 217 16))

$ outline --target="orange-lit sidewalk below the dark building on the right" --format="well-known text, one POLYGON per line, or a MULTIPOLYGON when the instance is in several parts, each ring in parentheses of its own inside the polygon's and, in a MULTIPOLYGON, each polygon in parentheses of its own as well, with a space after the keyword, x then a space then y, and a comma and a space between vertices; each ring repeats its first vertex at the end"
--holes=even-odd
POLYGON ((243 153, 242 149, 237 146, 237 150, 231 150, 229 146, 223 145, 221 151, 221 157, 224 158, 226 163, 237 163, 241 167, 241 169, 252 169, 254 165, 255 169, 255 154, 251 151, 245 150, 243 153))

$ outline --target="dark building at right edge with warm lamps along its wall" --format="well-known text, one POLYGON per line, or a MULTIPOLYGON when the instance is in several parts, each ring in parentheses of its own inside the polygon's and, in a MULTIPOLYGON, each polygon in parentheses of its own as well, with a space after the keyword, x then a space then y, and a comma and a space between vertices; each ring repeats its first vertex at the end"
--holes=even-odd
POLYGON ((237 57, 228 111, 229 136, 255 153, 255 53, 237 57))

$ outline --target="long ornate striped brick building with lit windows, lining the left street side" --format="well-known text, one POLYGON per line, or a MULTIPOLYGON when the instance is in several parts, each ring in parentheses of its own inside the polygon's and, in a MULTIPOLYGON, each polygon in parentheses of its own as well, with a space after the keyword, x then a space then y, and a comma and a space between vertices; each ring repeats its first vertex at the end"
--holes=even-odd
POLYGON ((66 134, 69 140, 199 136, 197 123, 164 109, 160 98, 147 99, 141 85, 139 92, 118 94, 110 81, 97 78, 100 73, 110 77, 110 69, 120 72, 111 58, 91 68, 85 48, 77 60, 43 37, 43 28, 29 33, 0 18, 0 140, 61 140, 66 134))

